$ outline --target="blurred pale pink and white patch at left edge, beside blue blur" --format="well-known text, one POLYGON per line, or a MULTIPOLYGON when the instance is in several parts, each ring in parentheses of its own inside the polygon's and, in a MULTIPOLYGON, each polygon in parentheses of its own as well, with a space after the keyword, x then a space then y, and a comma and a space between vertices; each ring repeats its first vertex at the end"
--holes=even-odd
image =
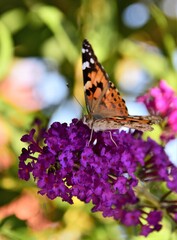
POLYGON ((34 96, 34 88, 41 80, 44 66, 31 59, 16 60, 9 75, 0 83, 1 97, 25 111, 41 108, 41 101, 34 96))

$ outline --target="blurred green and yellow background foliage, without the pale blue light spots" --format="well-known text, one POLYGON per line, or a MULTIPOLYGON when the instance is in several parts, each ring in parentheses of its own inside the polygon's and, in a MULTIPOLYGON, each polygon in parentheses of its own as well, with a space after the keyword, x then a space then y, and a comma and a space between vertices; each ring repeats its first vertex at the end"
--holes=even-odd
MULTIPOLYGON (((117 62, 131 60, 146 69, 154 83, 163 78, 177 90, 173 61, 177 19, 165 16, 161 2, 0 1, 0 239, 144 239, 134 237, 133 229, 124 229, 111 219, 91 214, 91 205, 76 201, 69 206, 58 199, 49 201, 37 195, 32 182, 18 179, 18 155, 23 146, 20 137, 30 128, 34 117, 45 116, 40 108, 31 111, 22 108, 15 98, 18 92, 14 95, 12 92, 9 100, 7 82, 17 59, 48 58, 57 64, 70 92, 76 95, 77 89, 83 91, 81 43, 87 38, 113 81, 118 80, 117 62), (125 9, 136 2, 146 5, 150 18, 145 25, 130 28, 122 17, 125 9)), ((148 239, 176 239, 169 228, 166 220, 161 233, 148 239)))

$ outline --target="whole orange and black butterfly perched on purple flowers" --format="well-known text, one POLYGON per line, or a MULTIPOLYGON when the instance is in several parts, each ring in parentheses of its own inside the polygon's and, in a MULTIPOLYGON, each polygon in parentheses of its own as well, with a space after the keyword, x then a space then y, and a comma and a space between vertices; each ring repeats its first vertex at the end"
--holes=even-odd
POLYGON ((83 122, 94 131, 133 128, 152 131, 152 124, 161 121, 160 116, 131 116, 125 100, 109 80, 108 74, 98 62, 91 44, 85 39, 82 45, 82 70, 84 93, 88 115, 83 122))

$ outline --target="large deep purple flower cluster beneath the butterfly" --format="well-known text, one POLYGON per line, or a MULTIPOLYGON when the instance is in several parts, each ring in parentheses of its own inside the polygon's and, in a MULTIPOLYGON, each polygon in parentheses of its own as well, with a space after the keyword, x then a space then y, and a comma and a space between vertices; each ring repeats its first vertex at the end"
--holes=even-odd
POLYGON ((93 132, 90 140, 91 130, 77 119, 69 126, 55 122, 45 132, 37 126, 37 134, 32 129, 21 139, 28 148, 19 157, 19 177, 32 175, 41 195, 92 202, 93 212, 140 226, 144 236, 161 229, 164 209, 177 221, 177 201, 167 201, 160 184, 177 192, 177 168, 155 141, 138 131, 93 132))

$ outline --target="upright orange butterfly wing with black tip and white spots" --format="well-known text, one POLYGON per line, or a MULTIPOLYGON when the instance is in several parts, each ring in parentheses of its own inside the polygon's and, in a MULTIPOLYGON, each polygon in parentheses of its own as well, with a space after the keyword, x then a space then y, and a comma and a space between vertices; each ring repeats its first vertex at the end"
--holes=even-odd
POLYGON ((82 46, 82 69, 85 100, 89 114, 95 119, 113 116, 128 116, 125 101, 108 74, 98 62, 87 40, 82 46))

